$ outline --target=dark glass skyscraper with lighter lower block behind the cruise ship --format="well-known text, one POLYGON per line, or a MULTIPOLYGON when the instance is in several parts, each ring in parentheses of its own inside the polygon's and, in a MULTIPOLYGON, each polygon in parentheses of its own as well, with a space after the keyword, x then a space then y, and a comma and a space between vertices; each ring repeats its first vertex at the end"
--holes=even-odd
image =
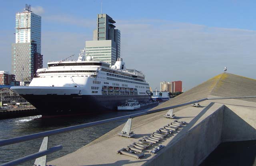
POLYGON ((107 14, 98 14, 97 29, 93 32, 93 41, 86 41, 86 56, 114 65, 120 58, 121 34, 114 29, 116 23, 107 14))

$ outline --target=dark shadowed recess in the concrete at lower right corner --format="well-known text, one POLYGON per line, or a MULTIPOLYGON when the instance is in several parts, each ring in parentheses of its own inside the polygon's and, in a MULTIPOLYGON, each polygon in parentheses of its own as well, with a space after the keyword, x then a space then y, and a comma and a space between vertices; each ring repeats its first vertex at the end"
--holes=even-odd
POLYGON ((227 106, 224 108, 222 141, 225 142, 200 166, 256 166, 256 129, 227 106))

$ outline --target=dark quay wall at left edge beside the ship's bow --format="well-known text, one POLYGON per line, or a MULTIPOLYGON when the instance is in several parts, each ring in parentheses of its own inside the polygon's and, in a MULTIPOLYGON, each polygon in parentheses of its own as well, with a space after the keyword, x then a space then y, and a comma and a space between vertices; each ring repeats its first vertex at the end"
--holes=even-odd
POLYGON ((26 108, 26 109, 5 109, 0 110, 0 119, 10 119, 18 117, 28 117, 40 115, 36 108, 26 108))

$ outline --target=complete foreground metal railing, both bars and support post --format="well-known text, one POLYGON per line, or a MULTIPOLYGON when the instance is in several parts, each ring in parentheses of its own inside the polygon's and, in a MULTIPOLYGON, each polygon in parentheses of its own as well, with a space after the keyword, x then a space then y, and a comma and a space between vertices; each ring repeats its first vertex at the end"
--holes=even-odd
MULTIPOLYGON (((116 121, 122 121, 124 119, 131 119, 131 118, 135 118, 135 117, 140 117, 140 116, 143 116, 143 115, 148 115, 148 114, 157 113, 157 112, 160 112, 160 111, 175 109, 175 108, 178 108, 178 107, 183 107, 183 106, 186 106, 186 105, 191 105, 191 104, 199 103, 199 102, 206 101, 206 100, 246 99, 246 98, 256 98, 256 96, 203 98, 203 99, 199 99, 199 100, 196 100, 196 101, 190 101, 188 103, 182 103, 182 104, 179 104, 179 105, 174 105, 174 106, 165 107, 165 108, 161 108, 161 109, 155 109, 155 110, 152 110, 152 111, 146 111, 146 112, 142 112, 142 113, 135 113, 135 114, 131 114, 131 115, 125 115, 125 116, 122 116, 122 117, 116 117, 116 118, 112 118, 112 119, 105 119, 105 120, 102 120, 102 121, 79 124, 79 125, 76 125, 76 126, 70 126, 70 127, 59 128, 59 129, 55 129, 55 130, 38 132, 38 133, 24 135, 24 136, 18 136, 18 137, 14 137, 14 138, 8 138, 8 139, 0 140, 0 146, 16 144, 16 143, 25 142, 25 141, 28 141, 28 140, 34 140, 34 139, 38 139, 38 138, 46 138, 48 136, 61 134, 61 133, 64 133, 64 132, 70 132, 70 131, 80 130, 80 129, 83 129, 83 128, 96 126, 96 125, 100 125, 100 124, 106 124, 106 123, 111 123, 111 122, 116 122, 116 121)), ((43 141, 43 143, 44 143, 44 141, 43 141)), ((42 145, 43 145, 43 143, 42 143, 42 145)), ((42 145, 41 145, 41 147, 42 147, 42 145)), ((38 158, 41 158, 41 157, 44 157, 45 161, 46 161, 46 157, 45 157, 46 155, 51 154, 51 153, 56 152, 56 151, 61 150, 61 149, 62 149, 62 146, 57 145, 57 146, 54 146, 52 148, 47 148, 45 150, 40 150, 37 153, 30 154, 28 156, 25 156, 25 157, 22 157, 22 158, 19 158, 19 159, 1 164, 0 166, 16 166, 16 165, 22 164, 24 162, 34 160, 34 159, 38 159, 38 158)))

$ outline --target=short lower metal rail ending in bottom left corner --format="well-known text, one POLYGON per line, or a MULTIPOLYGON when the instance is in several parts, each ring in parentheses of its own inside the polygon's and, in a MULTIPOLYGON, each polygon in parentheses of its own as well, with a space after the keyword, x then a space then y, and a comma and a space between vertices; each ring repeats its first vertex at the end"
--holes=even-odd
POLYGON ((4 164, 1 164, 0 166, 16 166, 18 164, 22 164, 24 162, 27 162, 27 161, 30 161, 30 160, 33 160, 33 159, 45 156, 47 154, 51 154, 53 152, 57 152, 59 150, 62 150, 62 148, 63 147, 61 145, 54 146, 54 147, 49 148, 47 150, 42 150, 40 152, 36 152, 34 154, 30 154, 30 155, 22 157, 22 158, 18 158, 16 160, 13 160, 13 161, 10 161, 10 162, 6 162, 4 164))

